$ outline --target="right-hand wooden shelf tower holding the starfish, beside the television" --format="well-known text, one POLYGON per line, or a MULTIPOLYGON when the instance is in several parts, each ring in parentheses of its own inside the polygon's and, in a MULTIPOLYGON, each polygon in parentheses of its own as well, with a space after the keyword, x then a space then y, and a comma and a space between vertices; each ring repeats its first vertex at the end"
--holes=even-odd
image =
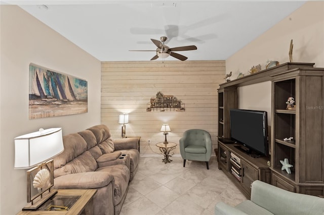
POLYGON ((272 76, 272 184, 293 192, 324 194, 324 69, 299 68, 272 76), (286 110, 294 97, 296 110, 286 110), (292 141, 284 138, 293 137, 292 141), (291 174, 281 170, 288 158, 291 174))

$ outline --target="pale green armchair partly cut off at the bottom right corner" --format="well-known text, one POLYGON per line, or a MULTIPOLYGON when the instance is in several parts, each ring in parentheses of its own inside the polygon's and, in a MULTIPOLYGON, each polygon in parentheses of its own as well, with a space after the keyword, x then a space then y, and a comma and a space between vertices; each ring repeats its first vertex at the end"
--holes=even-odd
POLYGON ((215 205, 215 214, 324 214, 324 198, 293 193, 262 181, 252 183, 251 200, 232 207, 224 202, 215 205))

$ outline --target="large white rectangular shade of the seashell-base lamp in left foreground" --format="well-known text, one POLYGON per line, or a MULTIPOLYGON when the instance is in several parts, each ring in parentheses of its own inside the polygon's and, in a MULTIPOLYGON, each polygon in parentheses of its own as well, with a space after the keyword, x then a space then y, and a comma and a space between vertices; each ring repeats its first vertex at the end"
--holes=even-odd
POLYGON ((61 128, 51 128, 15 138, 15 168, 27 169, 63 152, 61 128))

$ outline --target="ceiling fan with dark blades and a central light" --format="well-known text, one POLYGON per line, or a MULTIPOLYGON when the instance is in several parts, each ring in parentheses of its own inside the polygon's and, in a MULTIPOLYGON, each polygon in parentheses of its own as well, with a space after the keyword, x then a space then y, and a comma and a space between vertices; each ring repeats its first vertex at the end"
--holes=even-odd
POLYGON ((185 61, 188 58, 180 55, 173 51, 188 51, 188 50, 196 50, 197 46, 195 45, 188 45, 188 46, 180 46, 180 47, 174 47, 170 48, 169 46, 165 45, 164 42, 167 41, 168 37, 161 36, 160 41, 156 39, 151 39, 152 42, 157 46, 156 50, 130 50, 130 51, 156 51, 156 55, 151 59, 156 60, 158 58, 168 58, 170 55, 176 59, 179 59, 181 61, 185 61))

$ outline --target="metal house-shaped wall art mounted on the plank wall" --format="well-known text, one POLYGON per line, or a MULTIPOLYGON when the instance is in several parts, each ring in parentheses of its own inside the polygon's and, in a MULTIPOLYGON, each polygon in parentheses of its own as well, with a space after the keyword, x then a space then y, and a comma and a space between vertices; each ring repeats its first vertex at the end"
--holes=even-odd
POLYGON ((158 91, 147 103, 146 111, 185 111, 185 105, 177 97, 158 91))

